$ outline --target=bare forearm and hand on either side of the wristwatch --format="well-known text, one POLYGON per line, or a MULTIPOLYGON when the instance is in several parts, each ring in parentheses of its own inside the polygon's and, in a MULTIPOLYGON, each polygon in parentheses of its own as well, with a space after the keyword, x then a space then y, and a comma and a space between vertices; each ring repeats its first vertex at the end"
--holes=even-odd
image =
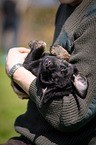
MULTIPOLYGON (((9 73, 10 69, 17 63, 23 64, 27 54, 30 52, 29 49, 19 47, 12 48, 9 50, 6 59, 6 72, 9 73)), ((19 67, 13 74, 13 80, 24 89, 29 95, 29 86, 36 77, 26 70, 24 67, 19 67)), ((18 93, 18 92, 17 92, 18 93)), ((24 94, 23 94, 24 95, 24 94)))

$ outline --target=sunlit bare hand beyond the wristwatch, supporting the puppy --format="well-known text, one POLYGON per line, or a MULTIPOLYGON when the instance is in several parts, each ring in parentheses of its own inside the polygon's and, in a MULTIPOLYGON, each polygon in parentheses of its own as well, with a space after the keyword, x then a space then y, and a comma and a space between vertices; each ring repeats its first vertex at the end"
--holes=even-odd
POLYGON ((14 47, 11 48, 8 52, 6 58, 6 73, 9 74, 10 69, 17 63, 23 64, 26 56, 30 52, 30 49, 25 47, 14 47))

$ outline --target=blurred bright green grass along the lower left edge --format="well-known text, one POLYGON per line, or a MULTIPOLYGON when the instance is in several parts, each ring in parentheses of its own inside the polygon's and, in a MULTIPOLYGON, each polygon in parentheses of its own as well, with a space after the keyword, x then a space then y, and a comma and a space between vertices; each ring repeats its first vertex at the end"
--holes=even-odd
POLYGON ((10 79, 5 73, 5 66, 0 65, 0 143, 13 136, 16 117, 26 110, 27 101, 20 100, 10 86, 10 79))

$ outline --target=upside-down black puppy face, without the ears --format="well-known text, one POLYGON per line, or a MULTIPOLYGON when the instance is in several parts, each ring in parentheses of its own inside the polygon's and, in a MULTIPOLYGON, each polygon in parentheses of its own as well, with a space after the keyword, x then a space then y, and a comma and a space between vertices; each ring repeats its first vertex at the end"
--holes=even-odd
POLYGON ((39 79, 47 86, 64 87, 70 83, 75 66, 56 56, 45 56, 40 64, 39 79))

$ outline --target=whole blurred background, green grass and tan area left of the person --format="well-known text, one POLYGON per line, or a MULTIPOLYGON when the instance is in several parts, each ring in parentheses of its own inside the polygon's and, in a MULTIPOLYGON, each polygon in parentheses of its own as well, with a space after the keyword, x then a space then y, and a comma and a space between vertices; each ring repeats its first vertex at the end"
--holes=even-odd
POLYGON ((5 73, 5 59, 11 47, 28 47, 31 40, 53 40, 58 0, 0 0, 0 144, 13 136, 16 117, 25 112, 27 100, 20 100, 5 73))

